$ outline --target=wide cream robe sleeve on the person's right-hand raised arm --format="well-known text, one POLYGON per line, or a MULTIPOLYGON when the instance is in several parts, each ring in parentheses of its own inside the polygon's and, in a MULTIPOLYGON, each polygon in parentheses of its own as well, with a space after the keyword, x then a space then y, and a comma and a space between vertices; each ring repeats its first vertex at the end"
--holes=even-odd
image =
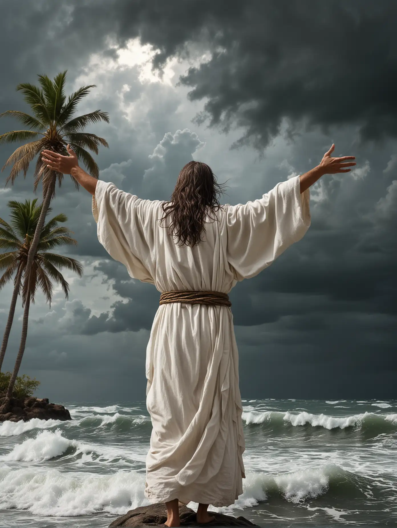
POLYGON ((258 200, 228 206, 226 258, 237 281, 258 275, 308 230, 309 188, 301 194, 299 177, 258 200))

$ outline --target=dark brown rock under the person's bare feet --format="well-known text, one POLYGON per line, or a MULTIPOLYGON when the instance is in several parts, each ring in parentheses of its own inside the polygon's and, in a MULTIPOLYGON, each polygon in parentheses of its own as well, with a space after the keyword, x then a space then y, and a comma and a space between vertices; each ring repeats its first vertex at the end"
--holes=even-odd
MULTIPOLYGON (((211 511, 208 513, 209 515, 214 515, 215 521, 200 524, 196 520, 196 512, 188 508, 185 504, 179 503, 181 526, 258 526, 248 521, 245 517, 233 517, 211 511)), ((167 507, 164 503, 157 503, 130 510, 109 524, 109 528, 116 528, 117 526, 123 526, 123 528, 131 528, 132 526, 162 526, 166 521, 167 507)))

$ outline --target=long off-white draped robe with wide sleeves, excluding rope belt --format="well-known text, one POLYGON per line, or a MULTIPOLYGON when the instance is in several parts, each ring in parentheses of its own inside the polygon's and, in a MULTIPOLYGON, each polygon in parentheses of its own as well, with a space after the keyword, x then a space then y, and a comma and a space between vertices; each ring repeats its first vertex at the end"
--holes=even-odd
MULTIPOLYGON (((160 226, 163 202, 98 181, 92 200, 98 239, 130 277, 160 292, 229 293, 309 228, 309 190, 301 195, 299 176, 277 183, 255 201, 227 204, 216 221, 207 216, 204 240, 193 248, 176 244, 167 229, 169 217, 160 226)), ((185 504, 233 504, 243 493, 245 440, 231 309, 159 305, 146 378, 152 432, 144 496, 150 503, 178 498, 185 504)))

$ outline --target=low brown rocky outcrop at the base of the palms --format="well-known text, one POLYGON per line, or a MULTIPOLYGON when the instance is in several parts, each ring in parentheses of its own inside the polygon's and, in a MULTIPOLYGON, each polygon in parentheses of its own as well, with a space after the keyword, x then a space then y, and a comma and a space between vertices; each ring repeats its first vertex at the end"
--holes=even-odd
POLYGON ((7 409, 4 414, 0 414, 0 422, 9 420, 18 422, 20 420, 28 421, 32 418, 41 420, 71 420, 70 412, 56 403, 50 403, 48 398, 11 398, 6 401, 4 394, 0 394, 0 408, 3 403, 7 403, 7 409))

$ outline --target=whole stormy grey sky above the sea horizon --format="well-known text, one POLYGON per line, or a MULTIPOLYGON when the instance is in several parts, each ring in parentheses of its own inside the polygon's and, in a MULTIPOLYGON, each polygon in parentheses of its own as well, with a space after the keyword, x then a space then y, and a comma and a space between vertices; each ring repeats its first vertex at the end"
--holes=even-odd
MULTIPOLYGON (((243 398, 396 398, 397 4, 278 0, 6 0, 1 5, 0 112, 32 113, 16 91, 67 70, 66 94, 95 84, 76 115, 110 122, 100 179, 168 200, 195 159, 225 183, 221 203, 245 203, 335 156, 350 173, 311 187, 312 225, 233 304, 243 398), (7 50, 7 52, 4 52, 7 50)), ((0 134, 21 129, 0 119, 0 134)), ((0 146, 0 163, 20 144, 0 146)), ((33 193, 34 163, 5 186, 7 202, 33 193)), ((68 175, 51 204, 65 213, 82 278, 64 272, 31 308, 20 374, 54 402, 144 400, 145 355, 160 293, 129 277, 96 235, 91 195, 68 175)), ((2 338, 12 284, 0 291, 2 338)), ((20 343, 16 310, 3 370, 20 343)))

